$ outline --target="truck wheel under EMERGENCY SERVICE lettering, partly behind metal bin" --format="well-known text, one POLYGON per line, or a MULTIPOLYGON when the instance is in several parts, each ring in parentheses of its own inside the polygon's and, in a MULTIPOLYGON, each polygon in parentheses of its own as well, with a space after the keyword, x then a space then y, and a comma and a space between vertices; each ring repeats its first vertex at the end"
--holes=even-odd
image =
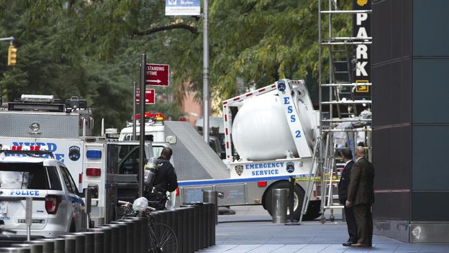
MULTIPOLYGON (((265 194, 265 206, 267 207, 267 211, 271 216, 273 216, 273 189, 289 189, 289 182, 288 181, 280 181, 275 182, 274 185, 269 187, 267 189, 267 192, 265 194)), ((299 185, 295 185, 294 190, 294 200, 293 200, 293 217, 295 220, 299 220, 300 214, 301 214, 301 207, 303 206, 303 200, 304 200, 305 191, 303 187, 300 187, 299 185)), ((290 218, 290 209, 289 209, 289 196, 287 196, 287 219, 290 218)))

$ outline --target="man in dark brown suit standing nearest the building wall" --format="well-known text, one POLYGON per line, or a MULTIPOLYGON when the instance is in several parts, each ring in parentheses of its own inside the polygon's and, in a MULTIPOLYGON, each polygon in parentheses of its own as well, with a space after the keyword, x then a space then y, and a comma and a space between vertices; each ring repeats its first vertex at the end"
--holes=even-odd
POLYGON ((374 167, 365 158, 365 148, 356 148, 356 162, 352 165, 346 207, 352 207, 359 241, 354 247, 372 247, 372 214, 374 203, 374 167))

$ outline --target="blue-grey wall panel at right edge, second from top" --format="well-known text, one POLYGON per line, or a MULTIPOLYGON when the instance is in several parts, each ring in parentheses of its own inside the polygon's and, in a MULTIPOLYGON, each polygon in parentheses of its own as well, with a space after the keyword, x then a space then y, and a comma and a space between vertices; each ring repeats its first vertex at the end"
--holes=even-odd
POLYGON ((449 59, 413 59, 414 123, 449 122, 448 80, 449 59))

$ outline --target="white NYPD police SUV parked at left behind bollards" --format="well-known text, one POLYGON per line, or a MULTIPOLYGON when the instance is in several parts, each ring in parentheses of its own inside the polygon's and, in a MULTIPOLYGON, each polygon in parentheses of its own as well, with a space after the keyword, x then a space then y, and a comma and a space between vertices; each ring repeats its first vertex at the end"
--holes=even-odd
POLYGON ((26 235, 32 198, 32 236, 57 237, 86 229, 85 205, 67 167, 52 158, 0 150, 0 223, 26 235))

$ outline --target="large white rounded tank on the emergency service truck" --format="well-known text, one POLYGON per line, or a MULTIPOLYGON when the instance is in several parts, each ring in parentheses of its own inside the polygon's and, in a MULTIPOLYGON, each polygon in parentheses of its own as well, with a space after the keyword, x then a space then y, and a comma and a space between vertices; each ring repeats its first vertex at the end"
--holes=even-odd
MULTIPOLYGON (((281 99, 277 93, 265 93, 242 101, 231 131, 234 148, 241 160, 298 157, 281 99)), ((297 100, 295 106, 305 135, 314 139, 312 103, 307 106, 304 101, 297 100)))

